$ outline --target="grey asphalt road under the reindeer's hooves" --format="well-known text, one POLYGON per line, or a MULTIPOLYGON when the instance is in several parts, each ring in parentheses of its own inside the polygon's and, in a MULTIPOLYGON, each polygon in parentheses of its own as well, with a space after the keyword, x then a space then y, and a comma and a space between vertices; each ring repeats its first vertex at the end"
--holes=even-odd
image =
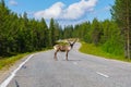
POLYGON ((131 64, 80 53, 80 44, 69 52, 36 53, 15 72, 8 87, 131 87, 131 64))

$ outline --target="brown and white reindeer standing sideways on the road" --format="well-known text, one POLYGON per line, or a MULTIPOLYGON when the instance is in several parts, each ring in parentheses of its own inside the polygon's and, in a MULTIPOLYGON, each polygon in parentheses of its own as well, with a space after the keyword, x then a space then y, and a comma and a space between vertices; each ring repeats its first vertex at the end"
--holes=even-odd
POLYGON ((66 53, 66 60, 68 61, 68 53, 73 48, 73 46, 76 42, 76 40, 78 39, 75 39, 73 42, 68 40, 69 45, 56 45, 56 46, 53 46, 53 49, 56 50, 53 59, 57 60, 57 53, 58 53, 58 51, 61 51, 61 52, 67 52, 66 53))

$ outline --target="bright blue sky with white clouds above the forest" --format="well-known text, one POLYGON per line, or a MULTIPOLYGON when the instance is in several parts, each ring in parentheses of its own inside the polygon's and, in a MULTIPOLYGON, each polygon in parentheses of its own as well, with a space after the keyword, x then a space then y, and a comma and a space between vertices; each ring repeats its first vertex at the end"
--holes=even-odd
POLYGON ((5 0, 8 8, 17 13, 27 13, 28 17, 48 22, 53 17, 62 25, 78 24, 110 18, 110 5, 115 0, 5 0))

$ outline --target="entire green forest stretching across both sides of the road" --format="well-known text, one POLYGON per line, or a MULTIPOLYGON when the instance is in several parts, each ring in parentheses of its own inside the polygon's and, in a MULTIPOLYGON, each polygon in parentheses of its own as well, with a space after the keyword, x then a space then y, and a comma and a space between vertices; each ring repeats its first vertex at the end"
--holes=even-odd
POLYGON ((61 27, 53 17, 49 26, 45 18, 28 18, 12 12, 0 1, 0 59, 19 53, 51 48, 59 39, 80 38, 104 51, 131 59, 131 0, 116 0, 111 5, 111 20, 86 21, 61 27))

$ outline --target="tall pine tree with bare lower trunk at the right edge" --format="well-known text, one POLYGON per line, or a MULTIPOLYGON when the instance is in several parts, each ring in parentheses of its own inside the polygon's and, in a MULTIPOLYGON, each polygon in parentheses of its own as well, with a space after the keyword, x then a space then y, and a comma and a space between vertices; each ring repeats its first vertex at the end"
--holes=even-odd
POLYGON ((123 34, 124 40, 124 55, 131 59, 131 0, 116 0, 112 5, 112 18, 117 22, 118 26, 123 34))

